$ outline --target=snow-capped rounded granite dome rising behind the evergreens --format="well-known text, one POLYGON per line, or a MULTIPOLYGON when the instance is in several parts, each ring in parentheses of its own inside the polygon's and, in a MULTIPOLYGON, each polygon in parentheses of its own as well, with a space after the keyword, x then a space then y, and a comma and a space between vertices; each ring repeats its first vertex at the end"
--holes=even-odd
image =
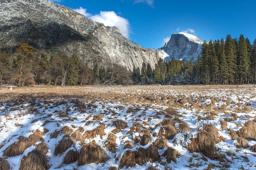
POLYGON ((201 52, 202 41, 194 35, 180 32, 172 34, 170 40, 164 44, 159 50, 160 55, 164 60, 172 60, 174 57, 177 60, 187 60, 196 62, 198 54, 201 52), (168 54, 169 56, 166 56, 168 54))

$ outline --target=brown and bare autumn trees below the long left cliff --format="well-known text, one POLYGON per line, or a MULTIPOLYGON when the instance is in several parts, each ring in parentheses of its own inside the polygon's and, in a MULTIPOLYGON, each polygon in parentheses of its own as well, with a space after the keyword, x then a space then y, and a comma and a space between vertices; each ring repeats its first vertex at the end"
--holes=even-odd
POLYGON ((58 47, 46 46, 36 50, 26 43, 19 44, 15 52, 0 51, 0 83, 75 85, 75 84, 127 84, 132 83, 130 72, 114 61, 104 66, 92 66, 76 55, 67 56, 58 47))

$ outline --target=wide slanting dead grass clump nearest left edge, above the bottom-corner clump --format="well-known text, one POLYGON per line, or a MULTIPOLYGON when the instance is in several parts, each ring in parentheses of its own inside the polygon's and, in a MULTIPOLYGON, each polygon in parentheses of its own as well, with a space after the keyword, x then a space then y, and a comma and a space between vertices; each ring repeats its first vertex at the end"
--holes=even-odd
POLYGON ((3 156, 12 157, 23 154, 23 152, 32 145, 28 138, 20 136, 18 141, 11 144, 4 150, 3 156))

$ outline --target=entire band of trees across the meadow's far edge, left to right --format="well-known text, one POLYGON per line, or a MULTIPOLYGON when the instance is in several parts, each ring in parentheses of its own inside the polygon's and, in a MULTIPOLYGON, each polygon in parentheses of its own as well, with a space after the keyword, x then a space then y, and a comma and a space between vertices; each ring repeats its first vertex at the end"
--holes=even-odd
POLYGON ((244 84, 256 83, 256 39, 251 44, 240 35, 224 41, 203 42, 197 63, 192 60, 158 60, 155 68, 143 63, 132 72, 114 61, 104 65, 79 61, 77 56, 67 56, 57 47, 45 50, 20 44, 14 53, 0 51, 0 83, 19 86, 35 83, 51 85, 74 84, 244 84))

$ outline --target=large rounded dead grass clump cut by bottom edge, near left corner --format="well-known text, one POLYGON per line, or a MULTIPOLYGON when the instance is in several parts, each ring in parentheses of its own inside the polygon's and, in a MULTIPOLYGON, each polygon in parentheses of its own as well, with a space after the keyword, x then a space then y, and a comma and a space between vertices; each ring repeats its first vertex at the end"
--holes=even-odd
POLYGON ((19 170, 46 170, 49 168, 46 155, 40 150, 34 149, 27 156, 23 156, 19 170))

